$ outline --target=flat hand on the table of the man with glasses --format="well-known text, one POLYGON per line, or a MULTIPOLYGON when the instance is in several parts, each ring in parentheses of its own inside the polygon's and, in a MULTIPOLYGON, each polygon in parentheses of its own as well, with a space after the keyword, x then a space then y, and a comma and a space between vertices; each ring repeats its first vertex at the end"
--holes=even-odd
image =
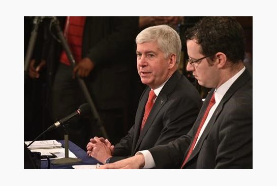
POLYGON ((99 169, 139 169, 142 168, 144 164, 144 156, 142 154, 138 154, 112 164, 102 165, 99 169))

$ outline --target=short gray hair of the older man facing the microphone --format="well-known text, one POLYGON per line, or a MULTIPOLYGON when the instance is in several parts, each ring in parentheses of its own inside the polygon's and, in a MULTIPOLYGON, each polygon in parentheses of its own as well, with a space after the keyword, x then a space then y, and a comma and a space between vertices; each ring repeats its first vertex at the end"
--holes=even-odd
POLYGON ((165 53, 165 58, 169 55, 176 55, 176 64, 181 58, 181 40, 178 33, 168 25, 150 26, 141 31, 136 37, 136 43, 158 41, 159 48, 165 53))

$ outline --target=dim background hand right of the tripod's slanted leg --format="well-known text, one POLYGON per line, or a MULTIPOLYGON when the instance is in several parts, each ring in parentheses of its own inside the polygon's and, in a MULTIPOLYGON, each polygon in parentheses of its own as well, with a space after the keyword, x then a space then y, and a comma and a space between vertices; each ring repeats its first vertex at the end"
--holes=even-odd
POLYGON ((94 63, 89 58, 81 59, 73 69, 73 78, 75 78, 76 73, 78 73, 80 77, 87 77, 94 67, 94 63))

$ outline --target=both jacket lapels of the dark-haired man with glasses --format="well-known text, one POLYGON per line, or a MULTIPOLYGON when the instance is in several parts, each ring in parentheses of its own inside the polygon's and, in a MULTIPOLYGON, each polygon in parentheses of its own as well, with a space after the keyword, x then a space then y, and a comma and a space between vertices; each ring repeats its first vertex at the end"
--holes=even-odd
MULTIPOLYGON (((220 113, 222 112, 223 110, 223 107, 224 107, 224 104, 232 97, 232 95, 241 87, 243 86, 245 83, 247 83, 251 78, 251 75, 249 74, 248 70, 245 69, 244 72, 236 79, 236 81, 233 83, 233 85, 228 89, 228 91, 225 93, 225 95, 223 96, 222 100, 220 101, 217 109, 214 111, 212 117, 210 118, 206 128, 204 129, 203 131, 203 134, 201 135, 198 143, 196 144, 196 147, 194 148, 190 158, 188 161, 190 161, 201 149, 202 145, 203 145, 203 142, 204 140, 207 138, 212 126, 214 125, 214 123, 216 122, 218 116, 220 115, 220 113)), ((205 109, 204 111, 202 112, 202 115, 201 115, 201 118, 200 120, 198 121, 198 125, 197 127, 199 126, 200 122, 201 122, 201 119, 203 117, 203 114, 207 108, 207 105, 209 103, 209 100, 212 96, 212 93, 214 92, 214 89, 212 89, 209 93, 209 95, 207 96, 208 100, 206 102, 206 105, 205 105, 205 109)), ((196 132, 196 131, 195 131, 196 132)), ((194 133, 194 136, 195 136, 195 133, 194 133)))

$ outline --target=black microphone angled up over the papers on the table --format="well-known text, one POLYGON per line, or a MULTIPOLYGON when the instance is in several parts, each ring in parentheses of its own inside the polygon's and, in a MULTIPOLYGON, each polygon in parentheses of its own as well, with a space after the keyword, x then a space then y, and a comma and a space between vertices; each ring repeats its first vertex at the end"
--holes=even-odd
POLYGON ((64 117, 63 119, 55 122, 54 124, 52 124, 51 126, 49 126, 46 131, 50 131, 54 128, 57 128, 59 127, 60 125, 63 125, 65 122, 71 120, 72 118, 75 118, 75 117, 78 117, 80 115, 86 115, 88 114, 90 111, 90 107, 89 107, 89 104, 88 103, 84 103, 82 104, 79 109, 77 111, 75 111, 74 113, 64 117))

